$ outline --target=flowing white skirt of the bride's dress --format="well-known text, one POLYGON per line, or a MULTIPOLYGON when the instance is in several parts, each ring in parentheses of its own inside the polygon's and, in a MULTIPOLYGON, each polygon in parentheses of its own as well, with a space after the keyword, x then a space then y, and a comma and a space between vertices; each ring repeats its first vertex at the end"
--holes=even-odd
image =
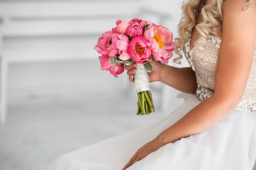
MULTIPOLYGON (((49 170, 121 170, 141 146, 200 103, 191 95, 163 119, 67 153, 49 170)), ((256 170, 255 161, 256 112, 233 110, 207 130, 162 146, 127 170, 256 170)))

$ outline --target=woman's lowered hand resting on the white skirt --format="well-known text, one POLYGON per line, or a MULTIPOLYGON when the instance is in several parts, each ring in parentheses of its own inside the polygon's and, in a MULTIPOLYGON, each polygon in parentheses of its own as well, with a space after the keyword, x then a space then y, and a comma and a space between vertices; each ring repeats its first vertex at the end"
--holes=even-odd
POLYGON ((159 148, 164 146, 162 142, 160 142, 159 137, 156 137, 152 141, 148 142, 141 148, 137 150, 135 155, 130 159, 130 161, 124 166, 122 170, 125 170, 126 168, 132 166, 135 162, 140 161, 141 159, 144 159, 146 156, 148 156, 150 153, 155 152, 159 148))

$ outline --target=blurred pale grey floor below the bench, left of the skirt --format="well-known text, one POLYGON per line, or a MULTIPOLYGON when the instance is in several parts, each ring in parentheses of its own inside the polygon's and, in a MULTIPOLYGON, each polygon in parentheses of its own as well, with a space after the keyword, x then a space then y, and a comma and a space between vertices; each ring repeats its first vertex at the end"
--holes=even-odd
POLYGON ((145 126, 166 114, 136 115, 134 102, 110 97, 10 105, 7 122, 0 127, 0 170, 47 170, 67 152, 145 126), (124 103, 131 107, 124 108, 124 103))

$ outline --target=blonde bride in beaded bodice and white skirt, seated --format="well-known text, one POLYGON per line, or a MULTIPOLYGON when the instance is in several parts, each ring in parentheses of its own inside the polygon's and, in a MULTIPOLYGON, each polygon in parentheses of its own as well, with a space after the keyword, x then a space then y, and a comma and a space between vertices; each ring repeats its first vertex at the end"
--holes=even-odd
MULTIPOLYGON (((67 153, 49 170, 253 169, 256 2, 189 0, 182 10, 174 61, 183 51, 191 67, 150 61, 149 78, 191 96, 164 119, 67 153)), ((126 70, 133 82, 136 64, 126 70)))

